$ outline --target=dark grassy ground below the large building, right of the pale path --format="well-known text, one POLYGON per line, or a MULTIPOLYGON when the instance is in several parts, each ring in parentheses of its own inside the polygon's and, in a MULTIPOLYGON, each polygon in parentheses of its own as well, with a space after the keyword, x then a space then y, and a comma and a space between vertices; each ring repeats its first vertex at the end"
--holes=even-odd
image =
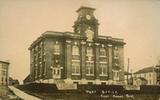
POLYGON ((106 94, 106 93, 95 93, 95 91, 87 90, 87 88, 83 88, 85 89, 85 91, 83 92, 78 90, 62 91, 62 90, 57 90, 57 88, 55 88, 55 86, 52 85, 53 84, 28 84, 19 86, 18 88, 42 100, 160 100, 159 93, 154 94, 154 93, 147 93, 147 92, 144 93, 138 91, 126 91, 126 92, 124 91, 121 94, 118 93, 106 94))

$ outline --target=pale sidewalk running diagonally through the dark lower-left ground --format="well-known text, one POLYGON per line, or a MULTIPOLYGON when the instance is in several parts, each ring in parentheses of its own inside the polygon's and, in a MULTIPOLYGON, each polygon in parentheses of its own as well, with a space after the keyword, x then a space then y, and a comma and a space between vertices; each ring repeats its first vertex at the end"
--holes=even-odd
POLYGON ((9 88, 17 95, 19 96, 20 98, 24 99, 24 100, 41 100, 37 97, 34 97, 32 95, 29 95, 13 86, 9 86, 9 88))

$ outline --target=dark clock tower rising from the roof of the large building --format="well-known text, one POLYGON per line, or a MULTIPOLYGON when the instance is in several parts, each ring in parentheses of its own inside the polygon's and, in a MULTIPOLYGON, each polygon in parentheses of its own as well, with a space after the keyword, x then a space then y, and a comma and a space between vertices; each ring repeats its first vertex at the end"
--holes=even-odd
POLYGON ((87 37, 87 41, 93 41, 98 36, 98 20, 94 16, 94 8, 80 7, 77 10, 78 18, 74 22, 74 32, 82 37, 87 37))

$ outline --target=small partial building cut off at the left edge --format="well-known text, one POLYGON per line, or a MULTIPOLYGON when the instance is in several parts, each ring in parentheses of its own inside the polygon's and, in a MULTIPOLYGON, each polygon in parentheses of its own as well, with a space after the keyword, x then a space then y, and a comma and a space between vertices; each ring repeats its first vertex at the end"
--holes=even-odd
POLYGON ((0 85, 8 85, 9 62, 0 61, 0 85))

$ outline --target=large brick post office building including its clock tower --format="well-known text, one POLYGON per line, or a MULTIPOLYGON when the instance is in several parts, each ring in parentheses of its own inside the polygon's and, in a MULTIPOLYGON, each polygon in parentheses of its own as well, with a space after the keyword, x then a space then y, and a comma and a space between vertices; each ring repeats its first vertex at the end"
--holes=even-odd
POLYGON ((31 82, 111 84, 124 81, 124 41, 98 35, 94 8, 80 7, 74 32, 46 31, 30 50, 31 82))

